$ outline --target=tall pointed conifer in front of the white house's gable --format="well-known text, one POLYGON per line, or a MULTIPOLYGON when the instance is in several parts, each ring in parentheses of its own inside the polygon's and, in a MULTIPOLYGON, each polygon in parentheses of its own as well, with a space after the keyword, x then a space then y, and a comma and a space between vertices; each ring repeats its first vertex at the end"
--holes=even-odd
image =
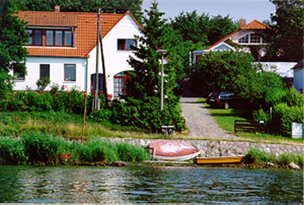
MULTIPOLYGON (((157 53, 158 48, 162 48, 161 36, 164 34, 165 19, 161 19, 164 15, 157 9, 158 3, 154 1, 150 7, 150 10, 145 12, 147 17, 143 19, 142 33, 145 37, 139 37, 138 48, 135 50, 135 57, 130 57, 129 64, 134 69, 130 72, 132 81, 128 84, 128 93, 135 98, 159 96, 161 86, 161 54, 157 53)), ((172 67, 166 65, 167 73, 170 73, 166 77, 165 86, 167 88, 172 87, 172 78, 174 72, 172 67), (171 69, 171 70, 170 70, 171 69)), ((165 89, 166 92, 170 92, 170 89, 165 89)))

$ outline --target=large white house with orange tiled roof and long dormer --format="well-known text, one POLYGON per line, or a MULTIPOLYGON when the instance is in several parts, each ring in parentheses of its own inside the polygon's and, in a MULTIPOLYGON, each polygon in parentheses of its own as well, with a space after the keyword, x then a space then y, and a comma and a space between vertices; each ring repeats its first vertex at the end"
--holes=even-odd
MULTIPOLYGON (((15 80, 14 90, 26 87, 35 90, 36 81, 43 77, 50 78, 50 85, 57 83, 81 91, 87 88, 88 92, 95 90, 97 13, 20 11, 18 16, 28 22, 26 30, 30 38, 25 45, 27 75, 15 80)), ((130 45, 138 44, 134 36, 142 36, 143 28, 126 12, 102 13, 100 29, 107 91, 117 97, 126 92, 129 76, 124 71, 132 70, 126 60, 134 55, 130 45)), ((98 72, 102 80, 101 55, 98 72)), ((13 71, 11 74, 14 75, 13 71)), ((99 84, 102 90, 102 83, 99 84)))

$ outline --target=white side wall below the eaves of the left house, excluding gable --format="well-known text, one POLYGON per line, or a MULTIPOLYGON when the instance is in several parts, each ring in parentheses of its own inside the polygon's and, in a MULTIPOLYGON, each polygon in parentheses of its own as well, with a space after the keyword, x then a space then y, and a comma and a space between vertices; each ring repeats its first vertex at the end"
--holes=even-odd
MULTIPOLYGON (((50 65, 50 85, 46 90, 50 89, 53 83, 58 83, 59 86, 65 85, 69 89, 76 86, 78 90, 84 90, 85 87, 85 58, 63 58, 63 57, 26 57, 25 80, 15 80, 14 90, 25 90, 26 86, 32 90, 37 89, 36 81, 40 77, 40 64, 50 65), (76 65, 76 81, 64 81, 64 64, 76 65)), ((13 74, 12 72, 10 73, 13 74)))

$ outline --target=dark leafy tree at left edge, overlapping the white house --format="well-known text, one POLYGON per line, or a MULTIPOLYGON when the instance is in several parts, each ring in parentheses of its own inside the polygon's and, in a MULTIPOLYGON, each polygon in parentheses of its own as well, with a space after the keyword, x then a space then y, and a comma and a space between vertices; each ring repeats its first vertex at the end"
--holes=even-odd
POLYGON ((5 94, 12 90, 12 76, 9 71, 15 63, 15 74, 25 75, 26 67, 20 62, 26 61, 26 48, 22 45, 28 40, 26 24, 15 14, 17 6, 14 0, 0 0, 0 104, 5 94), (16 66, 17 65, 17 66, 16 66))

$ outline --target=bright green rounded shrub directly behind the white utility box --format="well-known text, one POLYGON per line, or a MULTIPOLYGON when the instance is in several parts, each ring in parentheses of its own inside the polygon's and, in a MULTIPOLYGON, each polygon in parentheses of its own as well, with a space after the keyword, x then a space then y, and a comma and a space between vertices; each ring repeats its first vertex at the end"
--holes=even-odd
POLYGON ((280 133, 283 136, 291 136, 292 122, 303 122, 303 107, 280 103, 274 107, 273 120, 279 125, 280 133))

